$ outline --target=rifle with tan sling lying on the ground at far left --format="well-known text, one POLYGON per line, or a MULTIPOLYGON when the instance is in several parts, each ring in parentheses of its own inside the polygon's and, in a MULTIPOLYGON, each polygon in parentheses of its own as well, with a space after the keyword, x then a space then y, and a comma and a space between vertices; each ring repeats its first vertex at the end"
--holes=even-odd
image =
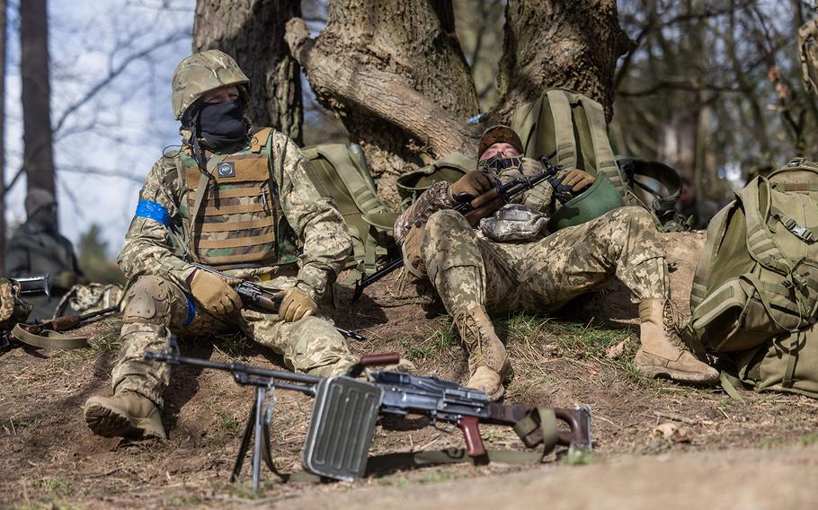
POLYGON ((49 334, 49 331, 73 330, 81 323, 90 321, 107 315, 112 312, 119 312, 119 306, 109 306, 96 312, 84 313, 83 315, 66 315, 51 319, 50 321, 37 321, 32 324, 17 324, 13 330, 0 333, 0 352, 12 348, 15 344, 23 343, 33 347, 43 347, 49 349, 76 349, 88 345, 87 339, 81 337, 64 337, 49 334), (44 337, 43 333, 49 334, 44 337))

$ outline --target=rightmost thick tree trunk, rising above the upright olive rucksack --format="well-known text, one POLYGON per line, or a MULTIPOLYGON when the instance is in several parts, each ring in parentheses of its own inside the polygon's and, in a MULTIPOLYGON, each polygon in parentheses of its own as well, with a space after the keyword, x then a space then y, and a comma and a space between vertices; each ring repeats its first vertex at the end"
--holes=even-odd
POLYGON ((562 87, 599 101, 610 120, 617 59, 633 44, 617 15, 615 0, 509 0, 495 113, 562 87))

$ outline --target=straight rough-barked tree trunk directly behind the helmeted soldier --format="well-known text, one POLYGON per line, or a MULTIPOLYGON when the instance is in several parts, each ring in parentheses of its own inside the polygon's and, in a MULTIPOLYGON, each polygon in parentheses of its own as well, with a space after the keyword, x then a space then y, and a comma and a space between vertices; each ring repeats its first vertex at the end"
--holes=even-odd
POLYGON ((299 0, 198 0, 193 51, 220 49, 250 78, 250 118, 301 145, 301 70, 284 43, 284 26, 301 15, 299 0))

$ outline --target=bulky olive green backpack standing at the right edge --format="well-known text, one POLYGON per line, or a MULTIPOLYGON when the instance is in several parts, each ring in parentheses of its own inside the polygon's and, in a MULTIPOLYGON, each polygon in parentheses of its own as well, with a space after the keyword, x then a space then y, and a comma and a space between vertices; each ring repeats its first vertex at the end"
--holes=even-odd
POLYGON ((735 192, 707 228, 690 310, 694 350, 757 389, 818 396, 818 164, 795 159, 735 192))

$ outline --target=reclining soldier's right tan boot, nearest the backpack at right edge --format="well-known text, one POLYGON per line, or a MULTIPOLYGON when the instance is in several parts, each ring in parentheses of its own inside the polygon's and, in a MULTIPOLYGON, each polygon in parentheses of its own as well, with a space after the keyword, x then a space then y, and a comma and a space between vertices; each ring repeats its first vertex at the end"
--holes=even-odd
POLYGON ((664 300, 646 299, 639 303, 640 341, 634 367, 649 377, 667 376, 673 381, 696 384, 718 382, 718 371, 702 363, 686 350, 674 346, 664 329, 664 300))

